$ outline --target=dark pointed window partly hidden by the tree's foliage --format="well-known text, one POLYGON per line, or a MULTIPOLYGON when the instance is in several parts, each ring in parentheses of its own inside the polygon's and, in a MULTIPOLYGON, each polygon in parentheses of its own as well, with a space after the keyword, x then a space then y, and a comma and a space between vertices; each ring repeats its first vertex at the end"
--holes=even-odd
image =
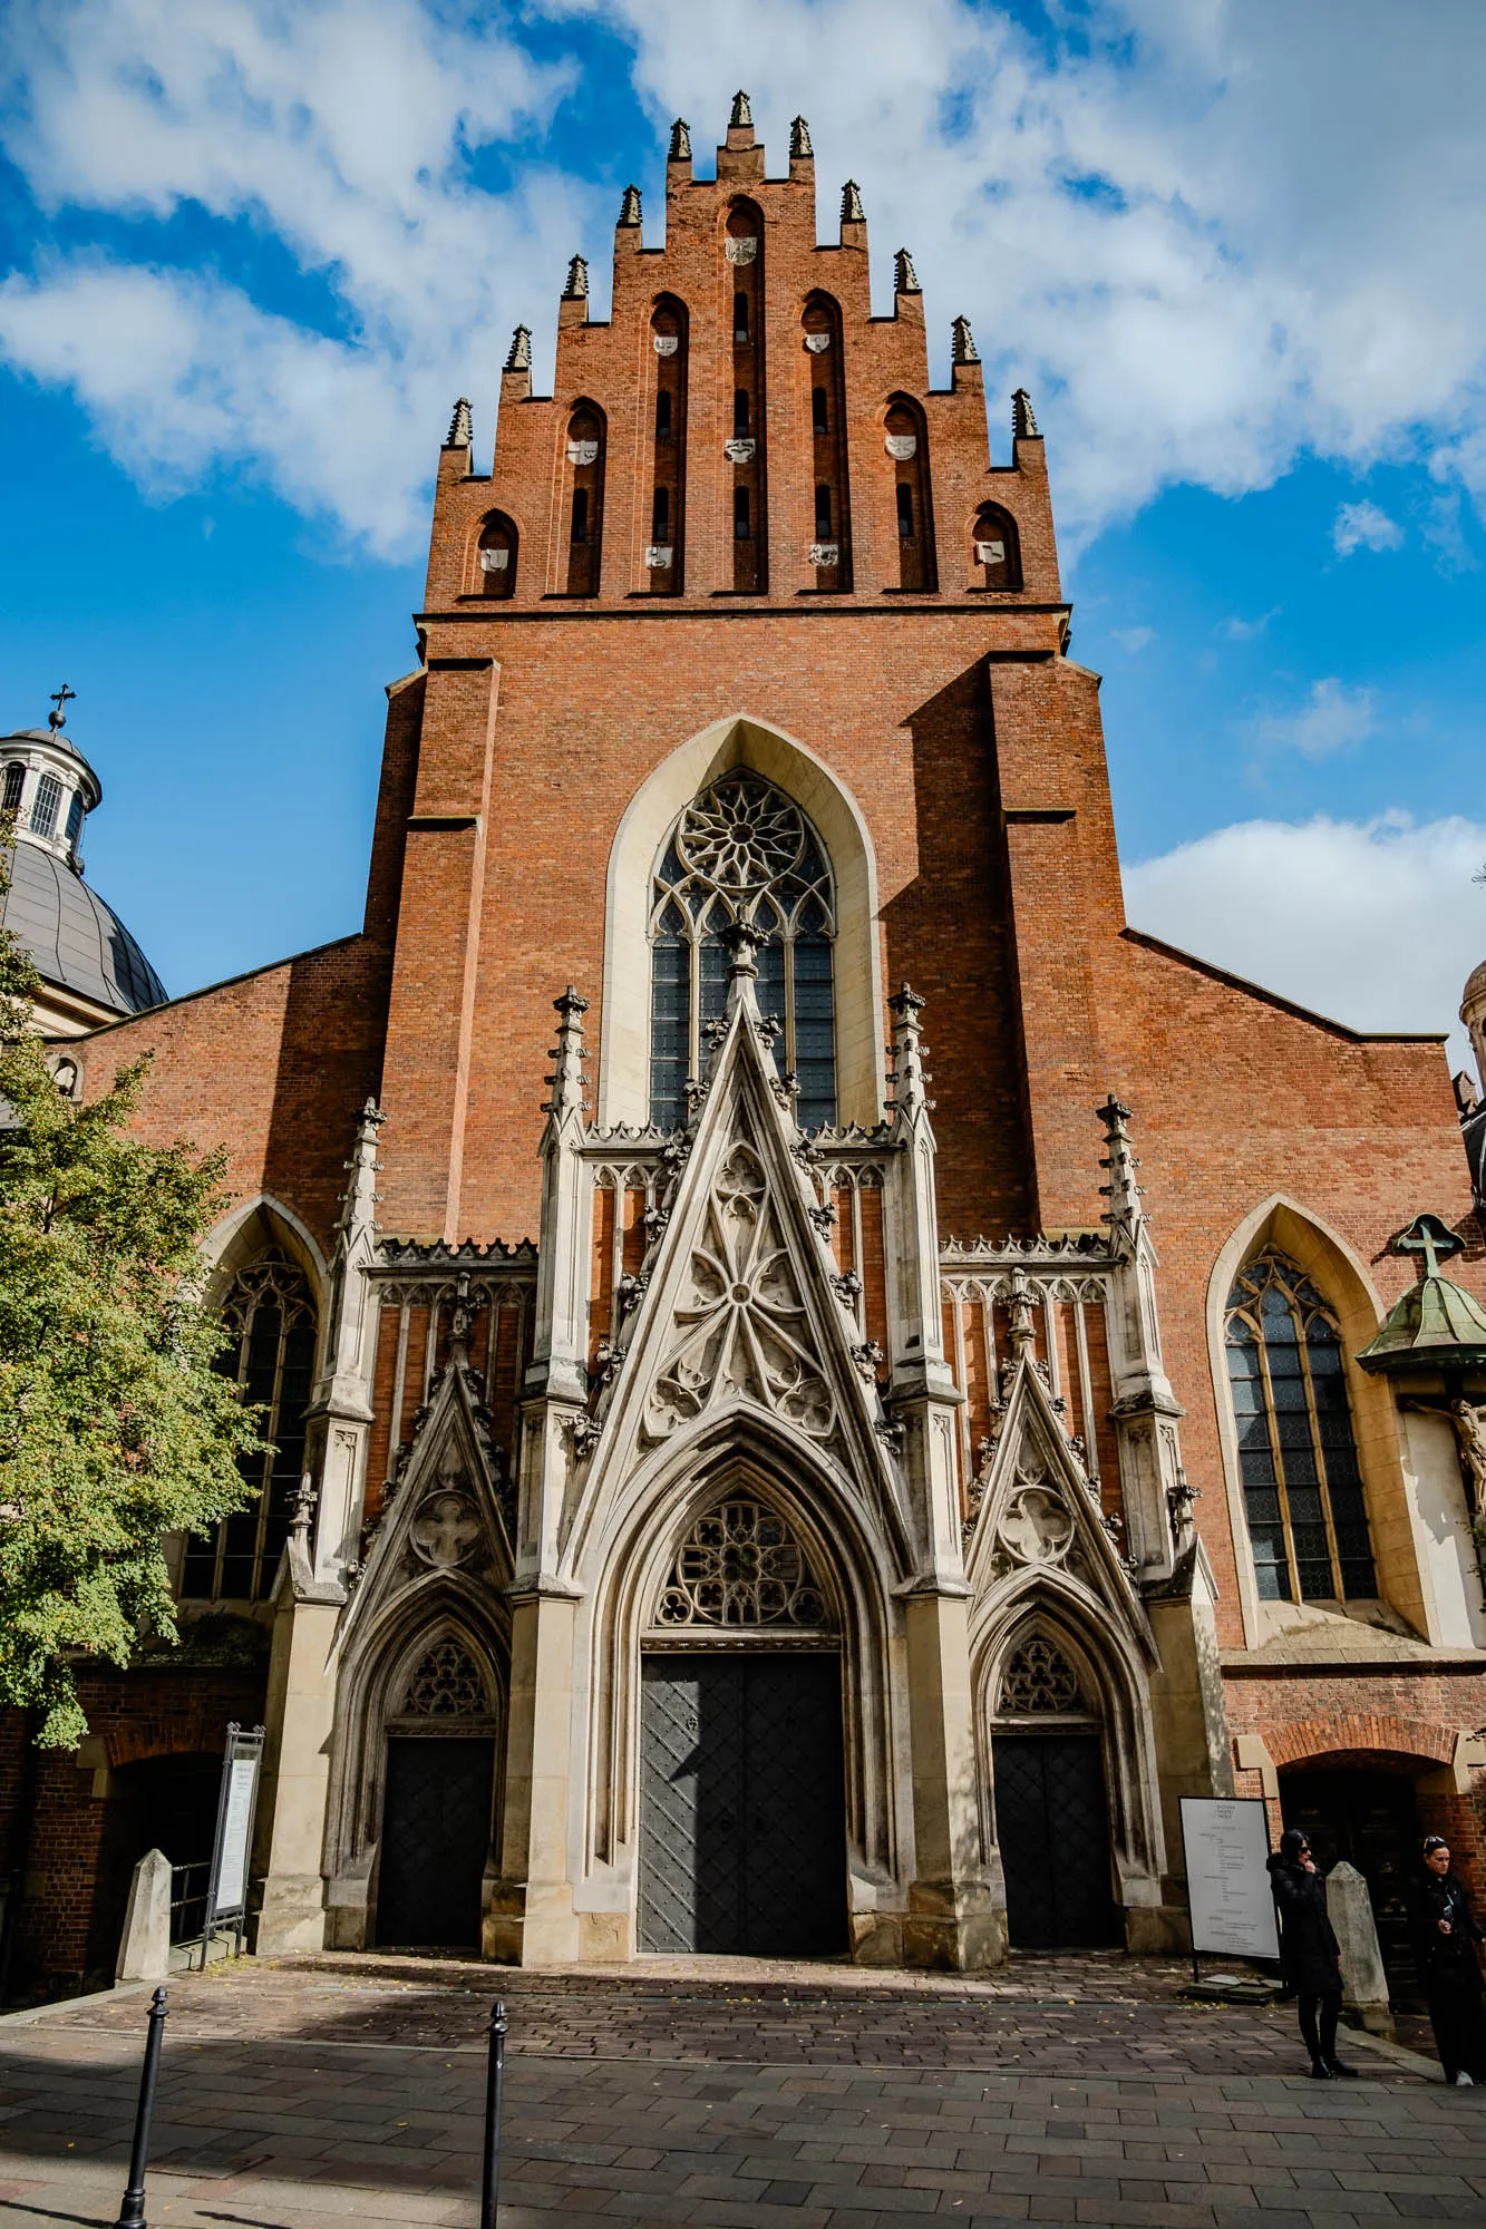
POLYGON ((239 1456, 252 1502, 212 1534, 194 1534, 181 1565, 185 1600, 263 1603, 295 1522, 306 1409, 315 1382, 317 1311, 310 1282, 281 1248, 239 1268, 221 1302, 232 1333, 219 1369, 259 1411, 261 1453, 239 1456))

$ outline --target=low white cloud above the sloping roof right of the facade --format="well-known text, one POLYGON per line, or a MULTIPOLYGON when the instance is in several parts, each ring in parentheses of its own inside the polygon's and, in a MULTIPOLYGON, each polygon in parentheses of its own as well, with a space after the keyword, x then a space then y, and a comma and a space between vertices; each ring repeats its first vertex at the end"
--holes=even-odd
POLYGON ((1133 927, 1352 1030, 1457 1028, 1486 954, 1486 823, 1243 820, 1125 869, 1133 927))

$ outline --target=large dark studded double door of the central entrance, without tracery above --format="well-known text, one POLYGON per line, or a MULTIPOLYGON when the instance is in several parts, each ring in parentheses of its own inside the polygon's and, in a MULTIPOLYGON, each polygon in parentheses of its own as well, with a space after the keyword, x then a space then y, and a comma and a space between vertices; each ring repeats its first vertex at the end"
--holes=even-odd
POLYGON ((846 1948, 841 1663, 645 1658, 640 1950, 846 1948))

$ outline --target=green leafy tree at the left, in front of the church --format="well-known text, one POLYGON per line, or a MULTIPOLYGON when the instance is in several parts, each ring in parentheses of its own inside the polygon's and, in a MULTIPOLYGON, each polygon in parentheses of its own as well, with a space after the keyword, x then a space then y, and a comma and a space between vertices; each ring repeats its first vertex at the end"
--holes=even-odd
POLYGON ((223 1157, 129 1137, 147 1059, 91 1106, 62 1099, 38 992, 0 927, 0 1701, 71 1748, 78 1658, 176 1638, 163 1536, 239 1509, 237 1458, 261 1442, 199 1291, 223 1157))

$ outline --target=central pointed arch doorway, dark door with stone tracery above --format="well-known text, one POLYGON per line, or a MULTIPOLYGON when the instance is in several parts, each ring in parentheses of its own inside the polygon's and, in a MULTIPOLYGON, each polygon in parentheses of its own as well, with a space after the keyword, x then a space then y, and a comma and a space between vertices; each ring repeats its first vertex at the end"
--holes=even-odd
POLYGON ((638 1946, 846 1950, 841 1652, 785 1520, 747 1493, 696 1520, 640 1661, 638 1946))

